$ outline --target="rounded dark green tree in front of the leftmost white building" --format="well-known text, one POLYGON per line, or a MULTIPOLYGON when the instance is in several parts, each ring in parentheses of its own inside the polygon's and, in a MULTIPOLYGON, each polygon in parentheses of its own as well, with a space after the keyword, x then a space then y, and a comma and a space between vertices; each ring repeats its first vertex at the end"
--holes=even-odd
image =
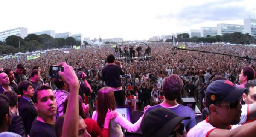
POLYGON ((6 39, 6 45, 14 46, 15 48, 18 48, 21 45, 25 45, 24 40, 20 36, 11 35, 8 36, 6 39))

